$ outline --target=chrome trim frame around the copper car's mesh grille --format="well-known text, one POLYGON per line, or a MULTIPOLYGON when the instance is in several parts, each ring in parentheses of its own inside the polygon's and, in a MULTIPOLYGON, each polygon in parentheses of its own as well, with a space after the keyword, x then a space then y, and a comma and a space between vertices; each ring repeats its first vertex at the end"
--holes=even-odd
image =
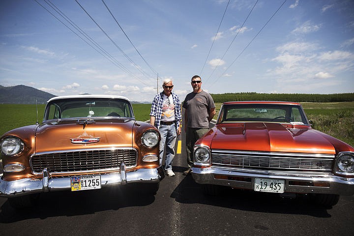
MULTIPOLYGON (((131 148, 131 147, 126 147, 126 148, 87 148, 87 149, 69 149, 69 150, 60 150, 60 151, 46 151, 46 152, 38 152, 38 153, 33 153, 30 155, 29 158, 29 166, 31 168, 32 174, 33 175, 42 175, 42 172, 35 172, 34 167, 32 164, 32 159, 34 156, 39 156, 39 155, 48 155, 48 154, 58 154, 58 153, 70 153, 70 152, 84 152, 84 151, 104 151, 104 150, 110 150, 110 151, 115 151, 115 150, 134 150, 135 151, 135 160, 134 160, 134 165, 128 165, 126 168, 127 169, 132 169, 137 166, 137 161, 138 161, 138 150, 136 148, 131 148)), ((125 164, 126 165, 126 164, 125 164)), ((49 168, 48 166, 43 167, 43 168, 49 168)), ((117 163, 117 167, 115 168, 97 168, 97 169, 92 169, 92 170, 82 170, 82 171, 62 171, 62 172, 55 172, 51 171, 51 175, 61 175, 61 174, 83 174, 83 173, 92 173, 92 172, 97 172, 97 171, 119 171, 119 163, 117 163)))

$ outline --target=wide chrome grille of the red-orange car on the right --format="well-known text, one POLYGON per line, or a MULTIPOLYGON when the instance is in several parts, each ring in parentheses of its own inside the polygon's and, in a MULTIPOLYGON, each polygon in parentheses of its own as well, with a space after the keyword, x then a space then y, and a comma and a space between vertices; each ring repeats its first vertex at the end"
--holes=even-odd
POLYGON ((331 173, 334 155, 213 149, 211 162, 215 167, 331 173))

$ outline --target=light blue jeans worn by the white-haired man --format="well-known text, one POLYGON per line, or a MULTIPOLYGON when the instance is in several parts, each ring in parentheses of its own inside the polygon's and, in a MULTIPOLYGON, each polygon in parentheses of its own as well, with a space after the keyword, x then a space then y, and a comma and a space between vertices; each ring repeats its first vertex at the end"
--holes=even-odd
POLYGON ((175 144, 177 139, 176 124, 171 125, 160 124, 159 127, 161 141, 160 141, 160 165, 164 156, 166 146, 165 170, 172 170, 172 161, 175 157, 175 144))

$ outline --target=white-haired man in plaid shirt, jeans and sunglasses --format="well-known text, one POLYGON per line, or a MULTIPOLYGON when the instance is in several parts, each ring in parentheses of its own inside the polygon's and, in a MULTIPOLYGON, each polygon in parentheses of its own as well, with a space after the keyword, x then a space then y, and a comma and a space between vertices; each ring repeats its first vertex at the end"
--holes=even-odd
POLYGON ((160 165, 166 146, 165 173, 170 177, 175 176, 172 162, 175 157, 177 135, 181 132, 181 104, 178 96, 172 92, 173 87, 171 79, 163 81, 164 90, 154 97, 150 111, 150 124, 154 125, 161 135, 160 165))

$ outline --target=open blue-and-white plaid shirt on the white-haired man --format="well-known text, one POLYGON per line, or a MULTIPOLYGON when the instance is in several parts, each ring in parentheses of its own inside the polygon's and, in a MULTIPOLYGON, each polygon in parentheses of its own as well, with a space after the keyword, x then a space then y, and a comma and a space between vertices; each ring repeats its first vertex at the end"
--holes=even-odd
MULTIPOLYGON (((160 120, 161 120, 161 114, 162 114, 162 103, 163 103, 163 94, 164 92, 160 92, 159 94, 156 94, 154 97, 152 104, 151 104, 151 111, 150 111, 150 116, 155 117, 155 127, 158 129, 160 127, 160 120)), ((172 98, 174 100, 175 104, 175 124, 176 124, 176 129, 179 127, 180 121, 182 119, 181 115, 181 103, 179 101, 178 96, 175 93, 172 93, 172 98)))

